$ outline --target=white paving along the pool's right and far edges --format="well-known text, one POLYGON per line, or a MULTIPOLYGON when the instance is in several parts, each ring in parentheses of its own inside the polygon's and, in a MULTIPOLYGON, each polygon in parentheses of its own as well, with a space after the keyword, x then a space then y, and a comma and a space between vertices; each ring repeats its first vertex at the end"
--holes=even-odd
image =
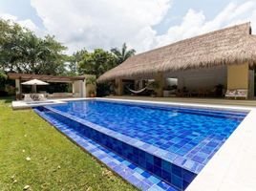
POLYGON ((198 103, 144 101, 121 98, 96 98, 108 101, 153 103, 158 105, 180 105, 208 109, 249 111, 245 119, 226 139, 221 148, 210 159, 186 191, 255 190, 256 174, 256 107, 212 105, 198 103))

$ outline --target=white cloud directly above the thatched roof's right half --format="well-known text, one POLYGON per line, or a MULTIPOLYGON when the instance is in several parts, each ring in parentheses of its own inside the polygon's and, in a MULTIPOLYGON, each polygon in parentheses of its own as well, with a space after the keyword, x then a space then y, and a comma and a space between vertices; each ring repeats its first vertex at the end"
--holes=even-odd
POLYGON ((248 21, 251 22, 252 31, 256 32, 255 1, 248 1, 241 5, 230 3, 214 19, 208 21, 203 11, 189 10, 184 15, 181 25, 172 26, 168 32, 156 36, 156 47, 248 21))

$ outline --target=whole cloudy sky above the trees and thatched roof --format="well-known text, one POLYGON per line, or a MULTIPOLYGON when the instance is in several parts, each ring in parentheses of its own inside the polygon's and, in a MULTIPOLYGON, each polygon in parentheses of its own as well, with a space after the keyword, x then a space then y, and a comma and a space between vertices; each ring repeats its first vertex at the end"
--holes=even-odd
POLYGON ((124 42, 142 53, 244 22, 256 33, 256 0, 0 0, 0 18, 54 35, 67 53, 124 42))

